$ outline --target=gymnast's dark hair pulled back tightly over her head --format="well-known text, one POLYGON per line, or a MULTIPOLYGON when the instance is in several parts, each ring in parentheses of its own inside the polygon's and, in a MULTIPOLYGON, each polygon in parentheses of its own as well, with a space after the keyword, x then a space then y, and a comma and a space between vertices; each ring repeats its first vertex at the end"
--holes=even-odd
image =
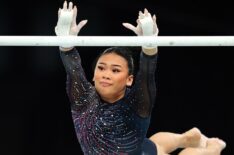
POLYGON ((115 54, 123 57, 128 63, 128 74, 129 75, 134 74, 134 61, 133 61, 133 57, 132 57, 132 52, 127 47, 110 47, 110 48, 107 48, 106 50, 104 50, 102 53, 100 53, 97 56, 96 60, 94 61, 93 71, 96 67, 98 59, 101 56, 103 56, 105 54, 109 54, 109 53, 115 53, 115 54))

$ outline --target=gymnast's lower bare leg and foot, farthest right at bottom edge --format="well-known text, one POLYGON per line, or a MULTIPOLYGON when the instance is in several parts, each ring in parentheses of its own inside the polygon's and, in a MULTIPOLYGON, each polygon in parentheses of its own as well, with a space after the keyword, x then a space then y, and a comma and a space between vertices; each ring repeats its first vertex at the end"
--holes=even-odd
POLYGON ((206 148, 186 148, 179 155, 220 155, 226 143, 218 138, 207 140, 206 148))

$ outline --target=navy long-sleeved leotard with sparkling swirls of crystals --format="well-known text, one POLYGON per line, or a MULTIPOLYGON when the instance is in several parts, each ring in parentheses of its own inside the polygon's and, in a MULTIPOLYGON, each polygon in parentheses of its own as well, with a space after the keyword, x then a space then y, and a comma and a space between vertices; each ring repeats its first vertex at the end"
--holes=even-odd
POLYGON ((156 155, 156 146, 146 138, 155 103, 157 55, 140 55, 132 88, 116 103, 107 103, 87 81, 76 49, 60 52, 67 72, 67 94, 75 131, 85 155, 156 155))

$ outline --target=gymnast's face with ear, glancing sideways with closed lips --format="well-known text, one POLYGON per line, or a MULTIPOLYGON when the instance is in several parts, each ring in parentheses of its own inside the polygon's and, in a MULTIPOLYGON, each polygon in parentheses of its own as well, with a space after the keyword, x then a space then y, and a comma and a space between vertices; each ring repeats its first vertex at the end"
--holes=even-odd
POLYGON ((107 53, 98 59, 93 81, 101 98, 113 103, 124 96, 126 86, 132 85, 133 75, 129 75, 125 58, 107 53))

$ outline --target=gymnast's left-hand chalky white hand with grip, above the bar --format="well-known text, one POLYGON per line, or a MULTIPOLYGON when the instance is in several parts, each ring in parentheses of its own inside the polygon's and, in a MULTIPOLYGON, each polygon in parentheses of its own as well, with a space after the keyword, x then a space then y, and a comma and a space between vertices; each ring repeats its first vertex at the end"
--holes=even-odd
POLYGON ((73 7, 72 2, 69 2, 67 7, 67 1, 64 2, 63 8, 58 10, 58 22, 55 27, 55 33, 57 36, 78 35, 81 28, 87 23, 87 20, 82 20, 79 24, 76 24, 77 8, 73 7))

